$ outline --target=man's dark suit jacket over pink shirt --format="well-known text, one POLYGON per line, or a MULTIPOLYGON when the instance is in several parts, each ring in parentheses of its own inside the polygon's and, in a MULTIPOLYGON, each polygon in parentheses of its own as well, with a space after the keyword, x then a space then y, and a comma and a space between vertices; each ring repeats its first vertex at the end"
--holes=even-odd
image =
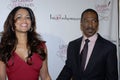
POLYGON ((69 43, 66 64, 57 80, 118 80, 116 46, 98 34, 88 65, 81 73, 81 42, 82 37, 69 43))

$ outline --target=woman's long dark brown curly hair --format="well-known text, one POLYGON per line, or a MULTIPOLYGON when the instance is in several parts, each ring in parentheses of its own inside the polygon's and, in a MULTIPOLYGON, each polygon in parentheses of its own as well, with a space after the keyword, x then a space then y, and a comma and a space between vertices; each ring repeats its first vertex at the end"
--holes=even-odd
POLYGON ((25 9, 28 11, 31 19, 31 27, 32 30, 27 32, 27 46, 30 50, 28 57, 31 57, 33 53, 38 53, 42 60, 46 58, 45 47, 38 47, 45 44, 45 41, 41 39, 41 36, 36 32, 36 21, 33 11, 28 7, 15 7, 8 15, 5 23, 4 23, 4 31, 1 33, 1 43, 0 43, 0 60, 7 63, 7 61, 11 58, 13 51, 16 49, 16 45, 18 43, 16 34, 15 34, 15 14, 19 9, 25 9))

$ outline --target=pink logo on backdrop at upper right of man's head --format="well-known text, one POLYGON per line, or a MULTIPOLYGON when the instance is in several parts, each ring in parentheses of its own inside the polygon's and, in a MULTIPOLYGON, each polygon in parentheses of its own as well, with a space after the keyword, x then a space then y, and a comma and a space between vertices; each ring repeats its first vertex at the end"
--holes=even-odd
POLYGON ((99 13, 100 20, 109 20, 110 18, 110 9, 111 0, 96 0, 95 9, 99 13))

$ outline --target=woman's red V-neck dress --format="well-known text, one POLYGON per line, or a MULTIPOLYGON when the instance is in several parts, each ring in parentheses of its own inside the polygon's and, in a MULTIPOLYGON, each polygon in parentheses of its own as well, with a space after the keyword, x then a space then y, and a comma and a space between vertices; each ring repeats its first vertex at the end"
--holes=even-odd
POLYGON ((42 60, 37 53, 34 53, 31 59, 33 64, 29 65, 14 52, 6 67, 8 80, 38 80, 42 60))

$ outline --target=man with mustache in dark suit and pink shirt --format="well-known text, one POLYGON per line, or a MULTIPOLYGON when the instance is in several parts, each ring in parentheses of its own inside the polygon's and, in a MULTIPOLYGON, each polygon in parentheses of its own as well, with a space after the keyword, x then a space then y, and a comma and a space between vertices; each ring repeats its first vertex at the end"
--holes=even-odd
POLYGON ((83 36, 69 43, 66 64, 57 80, 118 80, 116 46, 97 33, 98 26, 97 12, 85 10, 81 15, 83 36), (85 39, 89 41, 82 69, 85 39))

